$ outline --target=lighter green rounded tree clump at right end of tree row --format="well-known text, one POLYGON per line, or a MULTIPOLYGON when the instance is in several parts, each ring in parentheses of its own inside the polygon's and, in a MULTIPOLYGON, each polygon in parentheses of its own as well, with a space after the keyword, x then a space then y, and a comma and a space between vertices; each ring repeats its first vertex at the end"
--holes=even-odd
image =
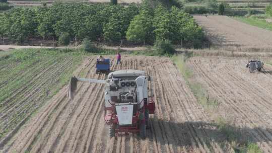
POLYGON ((177 7, 166 9, 143 8, 130 22, 126 33, 129 41, 153 43, 154 40, 170 40, 174 44, 201 47, 203 32, 193 18, 177 7))

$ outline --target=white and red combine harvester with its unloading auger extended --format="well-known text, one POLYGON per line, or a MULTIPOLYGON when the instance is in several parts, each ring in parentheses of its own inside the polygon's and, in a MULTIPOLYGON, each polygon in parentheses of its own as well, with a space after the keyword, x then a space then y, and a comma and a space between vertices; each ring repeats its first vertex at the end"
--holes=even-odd
POLYGON ((73 99, 77 82, 105 84, 105 123, 109 137, 118 132, 140 133, 146 138, 149 114, 154 114, 153 91, 148 87, 151 77, 141 70, 118 70, 109 73, 107 80, 71 78, 68 96, 73 99))

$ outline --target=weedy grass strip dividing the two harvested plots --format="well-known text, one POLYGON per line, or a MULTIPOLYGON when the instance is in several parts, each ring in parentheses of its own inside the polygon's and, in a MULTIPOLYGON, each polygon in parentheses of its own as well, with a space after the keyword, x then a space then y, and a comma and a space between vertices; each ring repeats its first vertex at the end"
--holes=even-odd
MULTIPOLYGON (((185 61, 191 55, 176 55, 171 57, 176 67, 181 72, 186 84, 189 86, 199 104, 201 104, 209 113, 217 113, 218 101, 215 98, 210 98, 208 91, 203 85, 193 80, 193 71, 187 67, 185 61)), ((218 115, 217 115, 218 116, 218 115)), ((215 119, 215 123, 212 124, 218 131, 224 135, 226 141, 233 148, 235 152, 254 152, 260 153, 261 149, 255 142, 251 142, 244 136, 245 129, 236 127, 232 123, 229 123, 223 117, 219 116, 215 119)), ((222 148, 226 146, 226 143, 220 143, 222 148)))

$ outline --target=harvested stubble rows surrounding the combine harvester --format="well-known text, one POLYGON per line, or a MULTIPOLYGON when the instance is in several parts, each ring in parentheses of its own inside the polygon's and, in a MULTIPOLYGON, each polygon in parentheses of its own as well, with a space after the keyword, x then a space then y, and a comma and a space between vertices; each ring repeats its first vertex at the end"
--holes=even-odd
MULTIPOLYGON (((95 74, 95 57, 88 57, 75 75, 105 79, 95 74)), ((197 104, 181 74, 169 58, 126 56, 112 70, 142 69, 153 76, 156 114, 148 137, 119 134, 108 138, 104 123, 104 85, 78 86, 74 100, 65 86, 4 147, 8 152, 226 152, 220 133, 197 104)))

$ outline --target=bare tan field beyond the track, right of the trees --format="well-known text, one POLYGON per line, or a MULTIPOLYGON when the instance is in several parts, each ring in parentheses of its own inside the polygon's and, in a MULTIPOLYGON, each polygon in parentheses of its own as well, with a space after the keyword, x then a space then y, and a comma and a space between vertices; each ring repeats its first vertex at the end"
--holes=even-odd
POLYGON ((272 31, 236 21, 227 16, 193 16, 216 46, 272 48, 272 31))

